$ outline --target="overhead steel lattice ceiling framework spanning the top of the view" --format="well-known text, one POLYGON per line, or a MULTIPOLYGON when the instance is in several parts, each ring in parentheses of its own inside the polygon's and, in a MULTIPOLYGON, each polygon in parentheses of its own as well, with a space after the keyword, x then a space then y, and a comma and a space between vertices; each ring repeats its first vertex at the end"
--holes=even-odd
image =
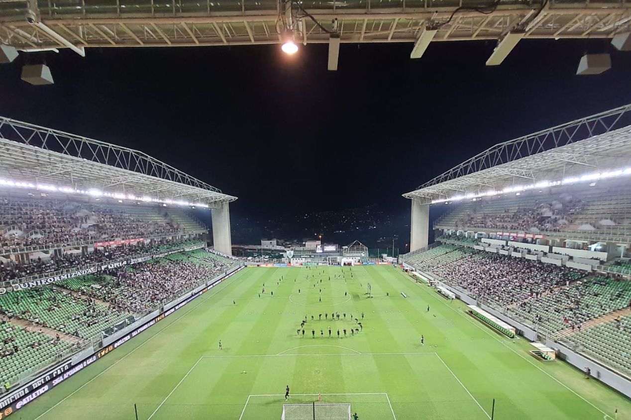
POLYGON ((90 47, 278 44, 290 28, 302 44, 329 43, 332 33, 342 43, 408 42, 418 58, 432 41, 500 42, 517 32, 494 65, 522 38, 611 38, 630 22, 631 4, 618 0, 0 1, 0 43, 81 55, 90 47))

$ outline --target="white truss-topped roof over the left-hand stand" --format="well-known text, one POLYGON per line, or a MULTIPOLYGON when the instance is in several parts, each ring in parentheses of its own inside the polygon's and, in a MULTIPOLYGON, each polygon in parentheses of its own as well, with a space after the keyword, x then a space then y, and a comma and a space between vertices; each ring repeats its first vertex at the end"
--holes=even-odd
POLYGON ((201 207, 237 199, 145 153, 5 117, 0 186, 201 207))

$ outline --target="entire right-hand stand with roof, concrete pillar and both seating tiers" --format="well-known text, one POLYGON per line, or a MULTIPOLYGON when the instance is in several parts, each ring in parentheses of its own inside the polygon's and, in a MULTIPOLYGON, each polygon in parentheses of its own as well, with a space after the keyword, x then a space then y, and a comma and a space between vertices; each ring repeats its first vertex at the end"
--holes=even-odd
POLYGON ((404 194, 399 262, 509 337, 631 395, 631 105, 473 156, 404 194), (429 226, 430 206, 447 211, 429 226), (436 242, 428 244, 430 228, 436 242))

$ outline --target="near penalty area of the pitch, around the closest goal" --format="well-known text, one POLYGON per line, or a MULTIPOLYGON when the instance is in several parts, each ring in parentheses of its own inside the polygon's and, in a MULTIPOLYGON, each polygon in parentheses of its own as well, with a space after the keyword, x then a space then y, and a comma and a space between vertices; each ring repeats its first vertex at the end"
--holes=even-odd
POLYGON ((437 353, 202 356, 175 378, 148 418, 280 419, 283 404, 322 394, 322 402, 351 404, 362 420, 490 419, 490 403, 487 412, 437 353))

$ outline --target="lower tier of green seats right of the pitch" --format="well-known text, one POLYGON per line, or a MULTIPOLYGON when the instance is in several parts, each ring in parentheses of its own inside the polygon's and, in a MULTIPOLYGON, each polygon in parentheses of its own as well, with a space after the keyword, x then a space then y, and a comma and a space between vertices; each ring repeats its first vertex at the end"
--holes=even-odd
MULTIPOLYGON (((631 375, 628 279, 451 244, 413 255, 406 264, 631 375)), ((628 260, 616 259, 613 264, 628 268, 628 260)))

